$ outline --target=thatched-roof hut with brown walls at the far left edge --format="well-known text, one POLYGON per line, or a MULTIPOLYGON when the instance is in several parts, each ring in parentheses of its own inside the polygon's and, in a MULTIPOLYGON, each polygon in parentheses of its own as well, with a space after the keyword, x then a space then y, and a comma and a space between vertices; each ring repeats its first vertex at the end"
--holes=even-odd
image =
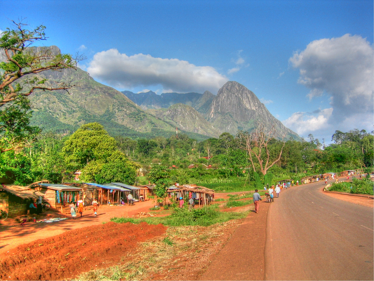
POLYGON ((8 213, 9 217, 27 214, 28 206, 37 200, 41 193, 29 187, 19 185, 0 185, 0 210, 8 213))

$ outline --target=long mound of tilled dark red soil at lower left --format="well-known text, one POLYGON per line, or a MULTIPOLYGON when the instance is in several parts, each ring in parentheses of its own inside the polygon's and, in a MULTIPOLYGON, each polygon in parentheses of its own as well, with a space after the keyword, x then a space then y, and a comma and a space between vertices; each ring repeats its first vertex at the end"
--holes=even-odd
POLYGON ((39 239, 2 255, 0 280, 65 280, 107 268, 121 262, 138 242, 166 229, 162 224, 109 222, 39 239))

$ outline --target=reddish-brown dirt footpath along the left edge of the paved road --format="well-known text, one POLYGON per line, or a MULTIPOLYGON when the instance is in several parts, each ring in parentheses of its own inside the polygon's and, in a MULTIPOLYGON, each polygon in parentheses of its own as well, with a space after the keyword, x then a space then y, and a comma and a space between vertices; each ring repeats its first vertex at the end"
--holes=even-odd
POLYGON ((199 280, 264 279, 266 217, 269 205, 270 203, 264 202, 263 199, 259 213, 250 212, 199 280))

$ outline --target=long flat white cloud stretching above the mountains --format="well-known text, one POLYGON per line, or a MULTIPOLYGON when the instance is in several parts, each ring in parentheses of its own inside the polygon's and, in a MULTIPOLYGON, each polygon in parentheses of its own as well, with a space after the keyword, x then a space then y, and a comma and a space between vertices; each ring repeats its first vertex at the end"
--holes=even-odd
POLYGON ((144 54, 128 56, 117 49, 96 53, 87 69, 94 78, 113 87, 162 85, 179 93, 217 92, 229 80, 211 66, 195 66, 176 58, 144 54))

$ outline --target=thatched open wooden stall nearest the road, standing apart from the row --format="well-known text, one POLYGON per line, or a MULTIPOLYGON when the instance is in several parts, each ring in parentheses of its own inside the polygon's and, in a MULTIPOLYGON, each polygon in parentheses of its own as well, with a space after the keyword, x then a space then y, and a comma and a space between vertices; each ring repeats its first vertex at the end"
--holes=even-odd
POLYGON ((203 186, 195 186, 195 187, 172 187, 167 190, 170 197, 183 197, 185 198, 186 194, 191 193, 191 197, 199 201, 200 206, 206 206, 210 202, 214 201, 214 190, 203 187, 203 186))

